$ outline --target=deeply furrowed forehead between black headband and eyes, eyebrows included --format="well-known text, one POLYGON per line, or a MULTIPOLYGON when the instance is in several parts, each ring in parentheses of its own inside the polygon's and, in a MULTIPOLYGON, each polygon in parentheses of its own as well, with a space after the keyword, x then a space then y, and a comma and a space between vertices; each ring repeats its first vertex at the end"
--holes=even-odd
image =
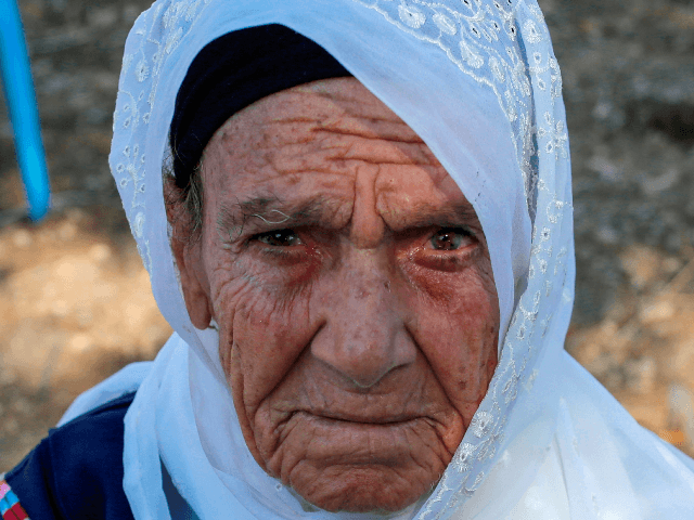
POLYGON ((202 177, 211 219, 291 214, 340 229, 357 192, 396 232, 474 216, 426 143, 355 78, 297 86, 232 115, 205 148, 202 177))

